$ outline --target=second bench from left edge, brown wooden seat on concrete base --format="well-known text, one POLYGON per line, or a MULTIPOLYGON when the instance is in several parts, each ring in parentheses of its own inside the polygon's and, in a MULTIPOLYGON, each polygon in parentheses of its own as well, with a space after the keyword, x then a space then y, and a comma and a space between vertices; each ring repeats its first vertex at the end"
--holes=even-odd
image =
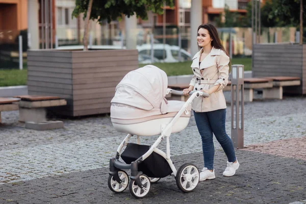
POLYGON ((47 121, 46 108, 65 106, 67 101, 58 96, 21 95, 19 101, 19 121, 25 122, 25 128, 50 130, 63 127, 62 121, 47 121))

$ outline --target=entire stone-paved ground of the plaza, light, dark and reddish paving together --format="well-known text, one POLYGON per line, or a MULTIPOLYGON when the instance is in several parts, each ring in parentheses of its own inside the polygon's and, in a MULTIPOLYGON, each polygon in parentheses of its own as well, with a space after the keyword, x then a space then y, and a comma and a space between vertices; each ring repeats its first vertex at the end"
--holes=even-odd
MULTIPOLYGON (((0 161, 4 168, 0 168, 0 197, 15 197, 24 203, 32 200, 40 203, 289 203, 303 200, 306 198, 302 179, 306 171, 305 152, 295 149, 303 147, 306 136, 305 110, 304 97, 246 103, 244 144, 247 148, 237 150, 241 167, 235 176, 222 176, 226 158, 214 140, 215 180, 201 182, 194 192, 185 194, 176 187, 174 177, 169 176, 152 185, 148 197, 140 200, 135 200, 128 190, 114 194, 108 189, 109 159, 125 137, 113 129, 109 116, 61 119, 64 129, 35 131, 24 129, 24 123, 18 122, 18 112, 3 112, 0 161), (279 139, 283 142, 275 141, 279 139)), ((231 134, 230 116, 227 108, 228 135, 231 134)), ((156 138, 145 137, 141 141, 152 144, 156 138)), ((200 142, 191 117, 185 130, 170 137, 174 165, 178 168, 192 161, 202 168, 200 142)), ((159 148, 165 150, 165 142, 159 148)))

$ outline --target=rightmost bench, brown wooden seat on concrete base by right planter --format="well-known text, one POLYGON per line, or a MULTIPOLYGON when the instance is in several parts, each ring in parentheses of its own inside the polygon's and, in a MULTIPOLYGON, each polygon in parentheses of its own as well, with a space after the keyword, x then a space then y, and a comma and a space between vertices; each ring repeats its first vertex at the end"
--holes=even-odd
POLYGON ((272 80, 273 87, 263 89, 263 98, 283 99, 284 86, 299 86, 301 79, 299 77, 266 77, 272 80))

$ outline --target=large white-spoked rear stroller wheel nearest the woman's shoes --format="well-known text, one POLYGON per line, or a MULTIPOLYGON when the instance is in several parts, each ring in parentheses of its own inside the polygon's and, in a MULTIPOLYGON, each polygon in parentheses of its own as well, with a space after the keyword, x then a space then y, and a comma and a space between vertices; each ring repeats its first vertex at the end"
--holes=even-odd
POLYGON ((183 164, 179 170, 177 170, 175 176, 176 185, 183 192, 193 191, 193 189, 198 185, 199 179, 199 170, 191 163, 183 164))

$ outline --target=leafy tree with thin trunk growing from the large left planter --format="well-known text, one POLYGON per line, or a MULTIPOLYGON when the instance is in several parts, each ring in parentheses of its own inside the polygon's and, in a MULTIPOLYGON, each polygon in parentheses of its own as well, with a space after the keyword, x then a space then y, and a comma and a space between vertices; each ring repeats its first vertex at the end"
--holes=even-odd
POLYGON ((72 12, 73 17, 78 17, 84 13, 84 50, 87 50, 88 24, 89 20, 97 20, 100 24, 107 19, 121 19, 122 14, 130 17, 137 15, 142 19, 147 19, 147 11, 162 14, 163 6, 173 7, 173 0, 75 0, 75 8, 72 12))

